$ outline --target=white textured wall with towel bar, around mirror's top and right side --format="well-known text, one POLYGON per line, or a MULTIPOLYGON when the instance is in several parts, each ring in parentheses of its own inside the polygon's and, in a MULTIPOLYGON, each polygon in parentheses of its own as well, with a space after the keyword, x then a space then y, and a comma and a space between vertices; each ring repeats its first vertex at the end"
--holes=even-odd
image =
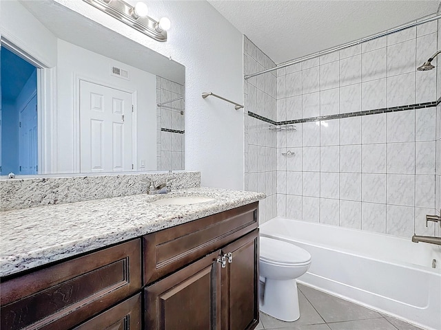
POLYGON ((243 111, 216 98, 201 98, 212 91, 243 102, 242 34, 206 1, 147 3, 150 17, 172 21, 165 43, 83 1, 55 1, 185 65, 185 170, 201 171, 203 186, 242 189, 243 111))

